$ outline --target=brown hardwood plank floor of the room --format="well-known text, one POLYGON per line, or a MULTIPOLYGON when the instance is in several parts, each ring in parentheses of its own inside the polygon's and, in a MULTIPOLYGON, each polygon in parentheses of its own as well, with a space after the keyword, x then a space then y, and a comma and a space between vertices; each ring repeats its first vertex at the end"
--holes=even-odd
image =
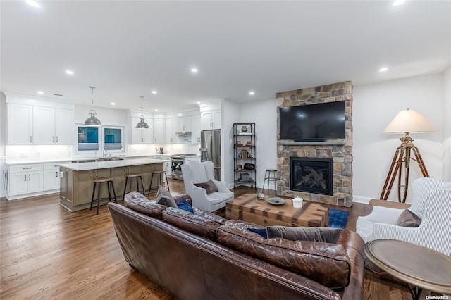
MULTIPOLYGON (((183 182, 169 180, 173 194, 183 182)), ((235 195, 249 188, 233 190, 235 195)), ((342 209, 342 208, 340 208, 342 209)), ((355 230, 370 206, 354 204, 355 230)), ((51 194, 0 201, 0 299, 175 299, 125 262, 106 206, 70 213, 51 194)), ((365 273, 365 299, 411 299, 407 287, 365 273)), ((424 297, 422 299, 425 299, 424 297)))

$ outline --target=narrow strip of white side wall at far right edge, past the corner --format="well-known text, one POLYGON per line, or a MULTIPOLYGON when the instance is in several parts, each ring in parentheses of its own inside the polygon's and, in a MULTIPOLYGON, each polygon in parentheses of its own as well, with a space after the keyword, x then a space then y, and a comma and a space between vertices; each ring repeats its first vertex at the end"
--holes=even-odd
POLYGON ((443 73, 443 180, 451 182, 451 66, 443 73))

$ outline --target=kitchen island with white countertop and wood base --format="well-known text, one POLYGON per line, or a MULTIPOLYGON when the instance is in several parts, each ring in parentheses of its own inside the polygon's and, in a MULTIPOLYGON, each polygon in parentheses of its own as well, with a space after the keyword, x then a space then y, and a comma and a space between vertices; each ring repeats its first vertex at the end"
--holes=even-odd
MULTIPOLYGON (((68 211, 80 211, 81 209, 89 208, 94 187, 92 180, 96 177, 112 177, 116 197, 118 200, 121 200, 123 199, 125 187, 125 174, 142 173, 144 189, 146 189, 146 192, 149 192, 152 172, 163 170, 163 163, 164 161, 160 159, 138 158, 121 161, 61 164, 60 204, 68 211)), ((163 178, 154 176, 152 187, 156 186, 159 180, 163 180, 163 178)), ((129 190, 130 182, 132 190, 136 190, 135 180, 129 180, 127 190, 129 190)), ((102 188, 100 196, 101 198, 107 198, 107 189, 102 188)))

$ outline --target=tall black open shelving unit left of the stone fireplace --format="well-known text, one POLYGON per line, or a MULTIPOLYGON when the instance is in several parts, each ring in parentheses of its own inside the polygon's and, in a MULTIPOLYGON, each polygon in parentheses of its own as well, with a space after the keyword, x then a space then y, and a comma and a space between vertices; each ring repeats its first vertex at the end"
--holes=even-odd
POLYGON ((235 189, 254 187, 256 180, 255 123, 233 123, 233 163, 235 189))

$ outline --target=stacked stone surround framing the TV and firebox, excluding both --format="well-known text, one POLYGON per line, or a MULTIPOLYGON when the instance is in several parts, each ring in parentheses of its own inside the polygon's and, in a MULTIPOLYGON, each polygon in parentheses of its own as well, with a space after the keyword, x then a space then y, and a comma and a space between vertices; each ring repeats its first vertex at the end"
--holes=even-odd
POLYGON ((278 108, 334 101, 346 101, 345 139, 326 142, 280 141, 280 115, 278 113, 277 194, 279 196, 300 196, 308 201, 352 206, 352 82, 338 82, 331 85, 297 89, 278 93, 276 97, 278 108), (290 157, 332 158, 333 196, 290 190, 290 157))

